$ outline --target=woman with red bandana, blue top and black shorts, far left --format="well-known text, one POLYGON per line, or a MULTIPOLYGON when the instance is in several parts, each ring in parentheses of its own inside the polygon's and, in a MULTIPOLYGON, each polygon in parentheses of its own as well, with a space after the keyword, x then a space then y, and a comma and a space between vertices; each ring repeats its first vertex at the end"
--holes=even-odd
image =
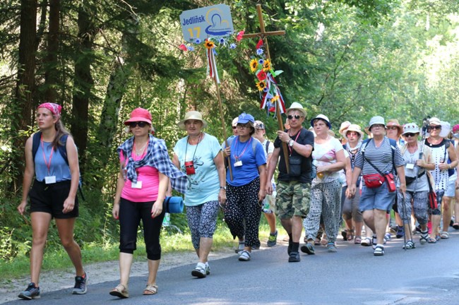
POLYGON ((61 109, 59 104, 49 102, 40 104, 36 114, 40 131, 28 138, 25 143, 23 198, 18 205, 18 212, 24 215, 29 197, 32 249, 30 250, 31 281, 18 295, 21 299, 40 298, 40 269, 52 218, 56 219, 61 243, 75 266, 76 277, 72 294, 86 293, 88 277, 83 270, 80 246, 73 239, 73 227, 78 217, 76 197, 80 179, 78 152, 73 138, 61 122, 61 109), (39 141, 40 144, 37 145, 35 141, 39 141), (32 189, 30 189, 31 185, 32 189))

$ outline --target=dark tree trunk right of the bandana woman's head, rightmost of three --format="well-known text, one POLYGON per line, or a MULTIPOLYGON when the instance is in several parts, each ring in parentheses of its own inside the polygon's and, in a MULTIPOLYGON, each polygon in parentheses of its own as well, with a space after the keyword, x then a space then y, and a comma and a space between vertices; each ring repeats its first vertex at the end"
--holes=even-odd
POLYGON ((91 75, 93 63, 93 41, 96 32, 91 20, 92 4, 82 4, 78 8, 78 44, 75 54, 75 77, 73 88, 73 107, 71 133, 75 139, 82 165, 81 172, 85 169, 85 152, 88 147, 88 109, 91 89, 94 85, 91 75))

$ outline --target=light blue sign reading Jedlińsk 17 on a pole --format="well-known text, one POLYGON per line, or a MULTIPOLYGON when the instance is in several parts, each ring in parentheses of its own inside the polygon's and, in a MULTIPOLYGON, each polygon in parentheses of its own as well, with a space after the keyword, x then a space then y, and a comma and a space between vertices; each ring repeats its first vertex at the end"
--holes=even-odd
POLYGON ((234 31, 231 11, 226 4, 184 11, 180 14, 180 24, 187 42, 225 36, 234 31))

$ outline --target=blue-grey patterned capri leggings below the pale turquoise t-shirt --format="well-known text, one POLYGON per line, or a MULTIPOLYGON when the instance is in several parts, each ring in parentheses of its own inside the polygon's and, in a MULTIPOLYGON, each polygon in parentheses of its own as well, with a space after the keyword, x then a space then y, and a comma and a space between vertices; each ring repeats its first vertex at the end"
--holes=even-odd
POLYGON ((186 207, 186 220, 191 231, 194 249, 199 249, 201 237, 212 238, 217 227, 218 201, 186 207))

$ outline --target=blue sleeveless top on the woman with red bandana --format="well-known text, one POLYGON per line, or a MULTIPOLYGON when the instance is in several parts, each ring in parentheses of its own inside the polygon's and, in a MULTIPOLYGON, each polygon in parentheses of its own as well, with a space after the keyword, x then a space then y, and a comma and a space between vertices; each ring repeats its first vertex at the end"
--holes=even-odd
MULTIPOLYGON (((52 151, 52 143, 43 142, 44 147, 44 157, 46 162, 49 164, 49 155, 52 151)), ((56 182, 71 180, 72 176, 70 174, 70 168, 68 167, 64 157, 61 156, 61 153, 58 149, 54 150, 52 153, 51 165, 48 167, 44 162, 42 145, 38 146, 37 154, 35 155, 35 178, 38 181, 44 181, 44 177, 55 176, 56 182)))

